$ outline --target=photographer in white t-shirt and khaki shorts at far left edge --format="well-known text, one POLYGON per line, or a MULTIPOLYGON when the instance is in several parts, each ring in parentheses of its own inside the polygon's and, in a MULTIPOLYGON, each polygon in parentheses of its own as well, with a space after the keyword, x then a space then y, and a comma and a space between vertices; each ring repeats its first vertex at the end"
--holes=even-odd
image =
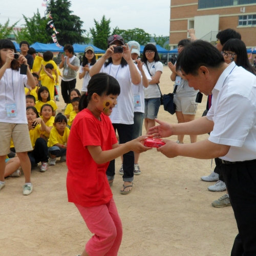
POLYGON ((35 88, 35 80, 28 68, 27 59, 16 53, 11 40, 0 40, 0 189, 5 186, 5 159, 10 153, 11 138, 15 145, 16 154, 22 166, 25 185, 23 195, 32 193, 31 164, 28 151, 31 151, 28 121, 26 117, 26 101, 24 84, 35 88), (24 65, 21 66, 20 64, 24 65), (26 75, 20 74, 22 70, 26 75))

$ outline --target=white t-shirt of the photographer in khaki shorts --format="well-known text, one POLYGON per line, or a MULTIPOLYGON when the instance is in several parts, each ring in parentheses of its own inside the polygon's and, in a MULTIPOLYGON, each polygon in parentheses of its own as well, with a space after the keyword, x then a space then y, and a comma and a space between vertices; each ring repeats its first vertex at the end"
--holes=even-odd
POLYGON ((27 75, 20 75, 19 71, 7 69, 0 80, 0 122, 28 123, 26 115, 26 99, 24 84, 27 75), (8 117, 6 104, 16 104, 17 116, 8 117))

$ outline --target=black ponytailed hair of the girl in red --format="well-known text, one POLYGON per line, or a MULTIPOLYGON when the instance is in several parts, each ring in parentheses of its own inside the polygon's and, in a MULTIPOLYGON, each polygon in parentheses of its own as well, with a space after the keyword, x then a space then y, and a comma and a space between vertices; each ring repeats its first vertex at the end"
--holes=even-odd
POLYGON ((97 93, 99 96, 120 94, 120 86, 118 81, 113 76, 106 73, 98 73, 92 76, 88 83, 87 90, 87 93, 84 93, 79 101, 79 111, 87 108, 88 103, 94 93, 97 93))

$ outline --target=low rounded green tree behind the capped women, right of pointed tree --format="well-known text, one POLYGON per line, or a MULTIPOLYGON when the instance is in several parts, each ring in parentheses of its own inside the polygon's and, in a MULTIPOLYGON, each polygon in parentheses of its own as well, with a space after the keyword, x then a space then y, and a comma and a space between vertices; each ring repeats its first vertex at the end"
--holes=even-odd
POLYGON ((137 41, 140 45, 146 45, 150 42, 151 34, 146 33, 143 29, 135 28, 123 30, 118 27, 114 28, 113 35, 121 35, 125 42, 137 41))

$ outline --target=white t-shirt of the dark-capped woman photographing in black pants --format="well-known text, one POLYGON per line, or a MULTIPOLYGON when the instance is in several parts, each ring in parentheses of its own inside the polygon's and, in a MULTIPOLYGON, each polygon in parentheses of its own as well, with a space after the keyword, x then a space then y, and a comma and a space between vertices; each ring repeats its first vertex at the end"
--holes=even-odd
POLYGON ((106 67, 103 65, 100 73, 106 73, 116 78, 121 88, 121 92, 117 97, 117 105, 110 115, 111 122, 133 124, 134 97, 129 65, 123 68, 121 65, 113 65, 112 63, 106 67))

